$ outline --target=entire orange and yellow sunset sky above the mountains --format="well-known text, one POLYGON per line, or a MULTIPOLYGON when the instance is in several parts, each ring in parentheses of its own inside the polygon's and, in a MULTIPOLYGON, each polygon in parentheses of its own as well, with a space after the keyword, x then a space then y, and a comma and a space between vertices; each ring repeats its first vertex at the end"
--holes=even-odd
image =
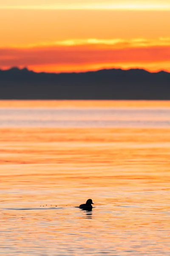
POLYGON ((0 23, 0 69, 170 72, 170 0, 0 0, 0 23))

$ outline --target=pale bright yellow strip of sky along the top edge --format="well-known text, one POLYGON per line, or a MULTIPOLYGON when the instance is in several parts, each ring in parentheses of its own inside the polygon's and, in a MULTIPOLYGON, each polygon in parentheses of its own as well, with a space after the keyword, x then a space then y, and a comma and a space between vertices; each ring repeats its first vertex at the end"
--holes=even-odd
POLYGON ((169 0, 6 0, 1 8, 35 9, 170 9, 169 0))

